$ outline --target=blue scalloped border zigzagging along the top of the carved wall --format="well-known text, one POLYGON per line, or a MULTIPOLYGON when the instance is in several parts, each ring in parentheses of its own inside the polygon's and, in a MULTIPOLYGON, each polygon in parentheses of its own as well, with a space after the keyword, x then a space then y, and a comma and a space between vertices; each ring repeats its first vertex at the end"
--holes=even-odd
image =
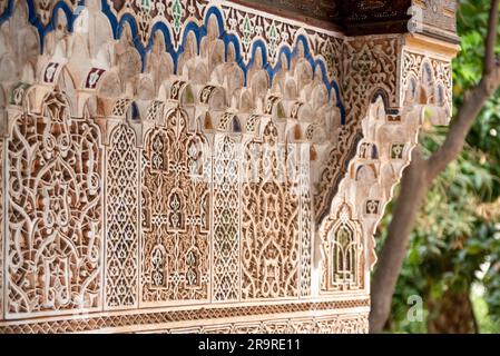
MULTIPOLYGON (((0 26, 7 19, 9 19, 12 16, 13 1, 14 0, 9 0, 8 1, 8 6, 6 8, 6 11, 3 11, 2 14, 0 14, 0 26)), ((79 13, 81 11, 80 6, 85 6, 85 0, 80 0, 78 2, 79 7, 77 8, 77 11, 72 12, 71 9, 69 9, 69 7, 68 7, 68 4, 66 2, 60 0, 53 7, 52 18, 51 18, 50 22, 47 26, 43 26, 43 23, 41 23, 41 21, 40 21, 39 16, 36 13, 36 8, 35 8, 35 1, 36 0, 26 0, 26 1, 27 1, 27 4, 28 4, 29 21, 30 21, 31 24, 33 24, 37 28, 38 33, 40 36, 40 52, 41 53, 43 53, 43 39, 45 39, 45 37, 50 31, 53 31, 53 29, 56 29, 56 27, 57 27, 57 13, 58 13, 58 11, 62 10, 65 12, 66 18, 68 20, 67 29, 68 29, 68 31, 72 31, 75 20, 76 20, 76 18, 79 16, 79 13)), ((243 56, 242 56, 241 50, 239 50, 241 49, 241 40, 239 40, 239 38, 237 36, 235 36, 234 33, 226 32, 226 29, 224 27, 223 14, 220 13, 220 10, 217 7, 215 7, 215 6, 212 6, 212 7, 209 7, 207 9, 207 11, 205 13, 205 19, 204 19, 202 26, 198 26, 194 21, 188 22, 188 23, 185 24, 182 43, 179 44, 177 50, 175 50, 175 48, 173 46, 170 31, 169 31, 168 27, 165 23, 157 22, 157 23, 155 23, 153 26, 151 34, 149 37, 147 46, 145 47, 143 44, 143 42, 140 41, 139 37, 138 37, 138 27, 137 27, 136 19, 131 14, 126 13, 118 20, 116 18, 116 16, 114 14, 111 8, 109 7, 108 1, 106 1, 106 0, 101 0, 101 9, 102 9, 102 12, 106 14, 106 17, 109 19, 109 22, 110 22, 110 26, 111 26, 111 29, 112 29, 112 34, 114 34, 115 39, 119 39, 120 38, 120 36, 122 33, 122 30, 124 30, 124 27, 126 24, 128 24, 130 27, 131 34, 134 37, 134 46, 137 49, 137 51, 140 53, 140 57, 143 59, 143 70, 144 70, 145 62, 146 62, 146 55, 153 48, 153 44, 154 44, 153 41, 154 41, 155 34, 156 34, 157 31, 160 31, 163 33, 163 36, 164 36, 164 39, 165 39, 166 51, 171 56, 171 58, 174 60, 175 72, 177 72, 178 59, 179 59, 180 55, 184 52, 184 48, 185 48, 185 43, 186 43, 186 40, 187 40, 187 36, 190 32, 194 32, 194 34, 196 37, 196 40, 197 40, 197 51, 199 53, 202 39, 207 36, 208 20, 213 16, 215 16, 215 18, 217 20, 218 30, 219 30, 219 39, 222 39, 224 41, 225 51, 226 51, 226 53, 225 53, 226 58, 227 58, 228 47, 229 47, 231 43, 233 43, 233 47, 235 49, 236 62, 239 66, 239 68, 243 70, 243 73, 244 73, 244 77, 245 77, 245 85, 246 85, 247 73, 248 73, 249 69, 252 68, 252 66, 254 65, 254 62, 255 62, 255 52, 256 52, 257 48, 261 49, 262 57, 263 57, 263 68, 267 71, 267 73, 269 76, 269 81, 271 81, 271 85, 272 85, 274 77, 276 76, 276 73, 282 68, 282 57, 283 57, 283 55, 284 55, 284 57, 287 60, 287 65, 290 65, 292 59, 297 56, 297 53, 298 53, 298 43, 301 42, 303 48, 304 48, 304 58, 308 61, 308 63, 313 68, 313 75, 315 75, 317 70, 321 70, 321 77, 323 79, 323 82, 324 82, 325 87, 329 90, 329 93, 331 93, 332 90, 335 90, 336 107, 339 108, 339 110, 341 112, 341 122, 342 122, 342 125, 345 125, 345 107, 344 107, 343 102, 341 101, 341 92, 340 92, 339 85, 334 80, 329 81, 325 62, 323 60, 321 60, 321 59, 316 59, 316 60, 314 59, 313 55, 311 53, 311 49, 308 47, 307 39, 305 38, 304 34, 300 34, 297 37, 296 44, 295 44, 295 47, 293 49, 291 49, 287 46, 281 48, 280 53, 277 55, 277 59, 278 60, 277 60, 277 62, 276 62, 276 65, 274 67, 267 60, 266 43, 262 39, 255 40, 252 43, 251 59, 248 61, 248 65, 245 65, 243 56)))

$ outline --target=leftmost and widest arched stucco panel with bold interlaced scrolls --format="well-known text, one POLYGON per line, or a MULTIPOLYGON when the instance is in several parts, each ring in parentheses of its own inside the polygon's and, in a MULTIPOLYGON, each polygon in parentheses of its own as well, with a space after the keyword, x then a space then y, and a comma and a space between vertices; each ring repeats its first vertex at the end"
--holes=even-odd
POLYGON ((99 306, 102 172, 98 127, 60 92, 18 117, 8 142, 9 316, 99 306))

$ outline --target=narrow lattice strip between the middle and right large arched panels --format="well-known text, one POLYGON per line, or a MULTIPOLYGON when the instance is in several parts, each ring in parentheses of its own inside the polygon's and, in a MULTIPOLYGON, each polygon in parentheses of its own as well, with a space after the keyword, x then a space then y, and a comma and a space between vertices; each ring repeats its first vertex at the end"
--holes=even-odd
POLYGON ((239 299, 239 159, 224 136, 214 155, 213 300, 239 299))

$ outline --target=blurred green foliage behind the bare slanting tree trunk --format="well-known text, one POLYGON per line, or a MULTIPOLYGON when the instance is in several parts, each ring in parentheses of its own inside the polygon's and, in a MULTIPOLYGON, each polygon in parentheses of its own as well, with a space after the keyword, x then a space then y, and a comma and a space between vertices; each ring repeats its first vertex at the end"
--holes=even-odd
MULTIPOLYGON (((484 38, 490 1, 462 0, 458 16, 461 52, 453 62, 454 112, 464 92, 482 75, 484 38)), ((500 33, 500 28, 499 28, 500 33)), ((500 43, 500 41, 499 41, 500 43)), ((497 46, 500 52, 500 44, 497 46)), ((444 140, 448 128, 434 128, 421 137, 430 156, 444 140)), ((408 298, 420 295, 424 306, 445 290, 469 290, 481 332, 500 333, 500 211, 479 207, 500 198, 500 93, 488 101, 467 138, 460 158, 437 179, 421 209, 393 297, 390 328, 398 333, 425 333, 425 323, 410 323, 408 298)), ((500 200, 499 200, 500 201, 500 200)), ((500 210, 500 204, 497 205, 500 210)), ((382 222, 379 247, 391 219, 382 222)), ((425 314, 427 315, 427 314, 425 314)))

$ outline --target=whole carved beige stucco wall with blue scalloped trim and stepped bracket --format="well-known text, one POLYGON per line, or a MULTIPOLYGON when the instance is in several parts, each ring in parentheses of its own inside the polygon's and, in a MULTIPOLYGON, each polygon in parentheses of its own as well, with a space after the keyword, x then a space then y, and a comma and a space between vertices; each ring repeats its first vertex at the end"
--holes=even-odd
POLYGON ((0 332, 367 330, 454 47, 227 1, 0 1, 0 332))

